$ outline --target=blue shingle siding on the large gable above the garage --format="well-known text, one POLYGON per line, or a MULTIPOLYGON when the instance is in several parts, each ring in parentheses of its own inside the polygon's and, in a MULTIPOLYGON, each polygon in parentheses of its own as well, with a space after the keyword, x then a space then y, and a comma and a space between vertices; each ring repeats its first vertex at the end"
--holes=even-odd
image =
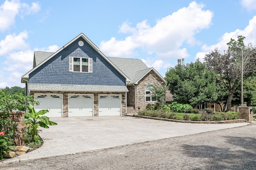
POLYGON ((125 86, 126 80, 82 37, 29 74, 30 84, 125 86), (84 45, 80 47, 79 41, 84 45), (69 57, 92 58, 92 73, 69 72, 69 57))

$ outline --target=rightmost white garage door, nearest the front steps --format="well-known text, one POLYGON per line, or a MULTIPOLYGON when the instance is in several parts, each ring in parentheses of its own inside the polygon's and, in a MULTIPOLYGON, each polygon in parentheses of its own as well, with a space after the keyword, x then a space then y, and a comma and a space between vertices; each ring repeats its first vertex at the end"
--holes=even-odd
POLYGON ((121 115, 120 95, 99 95, 99 116, 121 115))

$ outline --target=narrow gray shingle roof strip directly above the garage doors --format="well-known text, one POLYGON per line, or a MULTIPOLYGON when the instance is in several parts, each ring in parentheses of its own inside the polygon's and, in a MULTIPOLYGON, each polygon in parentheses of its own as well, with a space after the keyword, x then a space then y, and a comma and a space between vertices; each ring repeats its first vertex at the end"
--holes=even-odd
POLYGON ((28 84, 28 90, 79 91, 79 92, 128 92, 126 86, 91 86, 69 84, 28 84))

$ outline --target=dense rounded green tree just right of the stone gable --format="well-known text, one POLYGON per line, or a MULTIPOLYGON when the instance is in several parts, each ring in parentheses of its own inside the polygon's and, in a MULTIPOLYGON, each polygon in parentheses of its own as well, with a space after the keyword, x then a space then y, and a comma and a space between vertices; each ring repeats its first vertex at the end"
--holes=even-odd
POLYGON ((178 103, 195 105, 217 99, 215 74, 206 70, 206 64, 199 60, 185 65, 184 59, 179 59, 178 64, 166 72, 166 81, 178 103))

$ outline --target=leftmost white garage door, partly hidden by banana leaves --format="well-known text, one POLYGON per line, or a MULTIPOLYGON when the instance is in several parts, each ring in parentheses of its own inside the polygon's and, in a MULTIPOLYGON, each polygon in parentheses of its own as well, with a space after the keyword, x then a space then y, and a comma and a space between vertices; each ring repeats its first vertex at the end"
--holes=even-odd
POLYGON ((35 106, 36 111, 46 109, 49 112, 44 116, 62 117, 62 94, 35 94, 35 100, 41 102, 35 106))

